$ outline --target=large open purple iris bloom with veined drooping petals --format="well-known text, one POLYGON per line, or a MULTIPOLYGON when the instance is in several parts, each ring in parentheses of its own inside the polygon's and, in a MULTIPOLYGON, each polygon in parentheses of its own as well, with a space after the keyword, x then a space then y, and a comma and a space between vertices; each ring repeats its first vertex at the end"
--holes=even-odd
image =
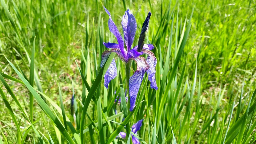
MULTIPOLYGON (((118 44, 103 42, 103 45, 105 45, 110 50, 106 50, 102 53, 101 67, 104 65, 104 63, 106 62, 111 52, 116 53, 123 62, 127 63, 130 60, 136 61, 137 70, 129 79, 130 111, 133 111, 135 107, 135 102, 136 102, 137 94, 139 91, 139 87, 141 85, 145 72, 147 72, 149 76, 151 89, 155 89, 155 90, 158 89, 155 81, 155 66, 157 64, 157 59, 155 58, 155 55, 150 51, 154 48, 154 46, 151 44, 144 44, 146 33, 148 31, 149 19, 150 19, 151 13, 149 12, 149 14, 147 15, 147 18, 145 19, 145 22, 143 23, 141 34, 138 41, 138 46, 135 46, 133 49, 131 49, 135 32, 137 29, 137 23, 131 11, 129 9, 125 11, 121 24, 123 26, 125 45, 127 47, 127 50, 126 50, 124 46, 123 38, 119 33, 117 26, 113 22, 109 11, 105 7, 104 9, 106 13, 109 15, 109 21, 108 21, 109 30, 117 38, 118 44), (147 54, 148 55, 147 59, 145 59, 144 57, 140 57, 140 55, 142 54, 147 54)), ((104 75, 104 79, 105 79, 104 85, 106 88, 108 88, 109 82, 112 79, 114 79, 116 76, 117 76, 117 66, 115 63, 115 59, 113 59, 106 74, 104 75)))

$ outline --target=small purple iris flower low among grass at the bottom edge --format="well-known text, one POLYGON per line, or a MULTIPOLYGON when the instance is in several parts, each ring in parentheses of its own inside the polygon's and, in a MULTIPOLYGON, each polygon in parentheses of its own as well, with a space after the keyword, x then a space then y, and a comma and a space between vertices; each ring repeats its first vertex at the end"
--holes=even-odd
MULTIPOLYGON (((142 122, 143 122, 143 119, 139 120, 137 123, 135 123, 133 125, 133 127, 131 127, 131 131, 137 135, 137 131, 141 129, 141 126, 142 126, 142 122)), ((125 139, 126 137, 126 133, 124 132, 120 132, 119 135, 117 136, 117 138, 123 138, 125 139)), ((133 144, 139 144, 139 139, 134 137, 133 135, 131 135, 131 139, 133 140, 133 144)))

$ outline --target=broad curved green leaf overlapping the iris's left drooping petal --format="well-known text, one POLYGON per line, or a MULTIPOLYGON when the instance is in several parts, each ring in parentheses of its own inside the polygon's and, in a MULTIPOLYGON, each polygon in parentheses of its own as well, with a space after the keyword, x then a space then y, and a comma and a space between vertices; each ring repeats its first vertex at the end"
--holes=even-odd
MULTIPOLYGON (((91 89, 87 95, 87 98, 85 100, 84 106, 83 106, 83 110, 82 110, 82 114, 81 114, 81 121, 80 121, 80 133, 83 133, 83 125, 85 123, 85 115, 86 115, 86 111, 88 109, 88 106, 91 102, 91 99, 93 98, 93 95, 95 93, 95 91, 97 90, 98 86, 100 85, 107 69, 110 66, 110 63, 112 62, 113 58, 115 57, 115 53, 111 53, 106 61, 106 63, 103 65, 103 67, 101 68, 101 70, 99 71, 97 77, 95 78, 93 85, 91 86, 91 89)), ((98 98, 97 98, 98 99, 98 98)), ((80 135, 81 137, 81 143, 83 143, 83 134, 80 135)))

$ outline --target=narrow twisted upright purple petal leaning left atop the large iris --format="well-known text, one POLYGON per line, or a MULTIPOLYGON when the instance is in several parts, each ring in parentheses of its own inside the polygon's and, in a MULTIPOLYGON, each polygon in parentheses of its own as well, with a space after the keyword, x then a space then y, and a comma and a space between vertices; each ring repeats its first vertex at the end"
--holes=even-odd
POLYGON ((117 42, 119 45, 119 48, 121 50, 121 53, 123 55, 123 57, 126 59, 126 54, 127 51, 124 48, 124 43, 123 43, 123 38, 121 36, 121 34, 119 33, 117 26, 115 25, 115 23, 113 22, 111 15, 109 13, 109 11, 104 7, 106 13, 109 15, 109 21, 108 21, 108 25, 109 25, 109 30, 111 31, 111 33, 113 33, 115 35, 115 37, 117 38, 117 42))

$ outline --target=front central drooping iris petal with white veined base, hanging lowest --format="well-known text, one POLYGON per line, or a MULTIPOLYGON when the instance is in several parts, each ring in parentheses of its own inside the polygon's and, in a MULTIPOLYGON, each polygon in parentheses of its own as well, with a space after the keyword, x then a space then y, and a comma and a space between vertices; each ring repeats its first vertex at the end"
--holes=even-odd
POLYGON ((137 62, 137 70, 129 79, 130 111, 133 111, 139 87, 141 86, 145 72, 149 69, 149 65, 144 57, 135 57, 131 59, 137 62))

